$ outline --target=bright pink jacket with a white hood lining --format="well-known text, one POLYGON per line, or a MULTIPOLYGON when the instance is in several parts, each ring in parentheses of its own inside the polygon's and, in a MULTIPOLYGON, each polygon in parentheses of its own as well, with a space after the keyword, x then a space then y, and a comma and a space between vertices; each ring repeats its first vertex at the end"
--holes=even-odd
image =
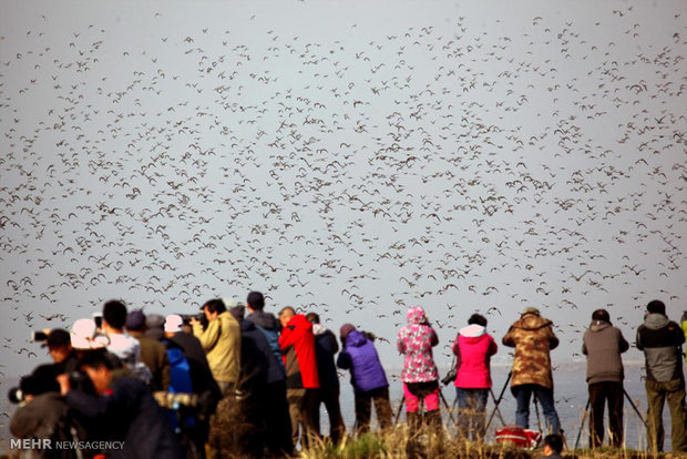
POLYGON ((481 325, 461 328, 453 343, 457 360, 455 387, 486 389, 492 386, 489 361, 499 347, 481 325))

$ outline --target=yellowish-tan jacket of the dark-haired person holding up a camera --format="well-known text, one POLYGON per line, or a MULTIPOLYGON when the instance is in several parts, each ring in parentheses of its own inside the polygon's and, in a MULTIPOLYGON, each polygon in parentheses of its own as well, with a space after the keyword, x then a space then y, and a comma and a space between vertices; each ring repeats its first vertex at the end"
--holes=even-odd
POLYGON ((240 373, 240 326, 227 310, 212 320, 205 330, 194 324, 193 334, 207 355, 207 364, 218 382, 238 382, 240 373))

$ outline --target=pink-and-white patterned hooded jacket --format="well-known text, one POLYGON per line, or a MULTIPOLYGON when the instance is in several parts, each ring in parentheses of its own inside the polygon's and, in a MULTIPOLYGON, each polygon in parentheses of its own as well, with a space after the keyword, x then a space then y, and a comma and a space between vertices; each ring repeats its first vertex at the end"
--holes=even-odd
POLYGON ((401 380, 403 382, 428 382, 439 379, 432 347, 439 344, 437 333, 427 323, 424 309, 408 309, 408 326, 401 328, 397 348, 406 356, 401 380))

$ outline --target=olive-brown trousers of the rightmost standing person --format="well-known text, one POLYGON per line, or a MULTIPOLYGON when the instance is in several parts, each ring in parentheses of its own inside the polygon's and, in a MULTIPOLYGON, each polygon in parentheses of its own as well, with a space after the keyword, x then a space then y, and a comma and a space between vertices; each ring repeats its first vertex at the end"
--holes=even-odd
POLYGON ((646 401, 649 408, 649 448, 654 452, 663 451, 664 429, 663 429, 663 406, 668 400, 670 409, 670 439, 673 451, 687 451, 687 434, 685 421, 687 412, 685 410, 685 381, 674 379, 666 382, 647 380, 646 401))

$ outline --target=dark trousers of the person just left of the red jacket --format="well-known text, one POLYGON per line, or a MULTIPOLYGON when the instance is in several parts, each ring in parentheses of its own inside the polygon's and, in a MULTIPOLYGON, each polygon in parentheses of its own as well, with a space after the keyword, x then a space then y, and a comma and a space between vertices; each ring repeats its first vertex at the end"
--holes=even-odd
POLYGON ((294 452, 294 442, 284 380, 267 385, 264 406, 267 449, 274 456, 290 456, 294 452))

